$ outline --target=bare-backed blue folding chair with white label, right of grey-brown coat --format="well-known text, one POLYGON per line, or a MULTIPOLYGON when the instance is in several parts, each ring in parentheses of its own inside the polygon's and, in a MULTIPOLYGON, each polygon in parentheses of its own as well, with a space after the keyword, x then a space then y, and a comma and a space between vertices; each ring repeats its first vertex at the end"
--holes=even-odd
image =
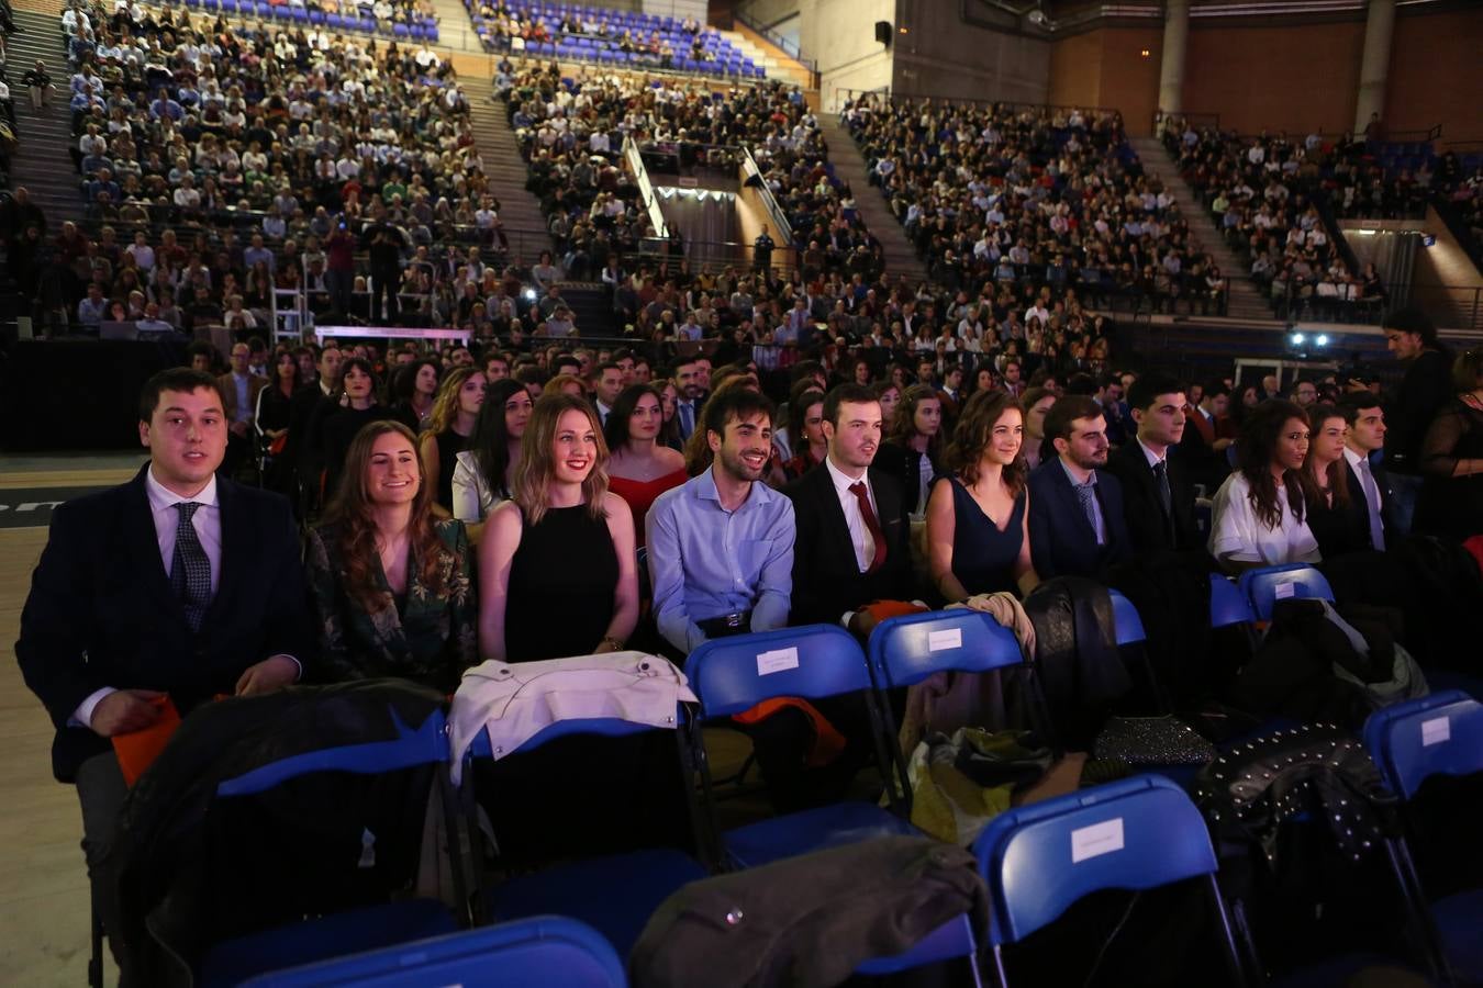
POLYGON ((1169 779, 1140 775, 1000 813, 973 843, 989 886, 988 942, 1001 985, 1004 947, 1050 926, 1102 889, 1143 890, 1204 878, 1222 948, 1241 973, 1219 862, 1200 810, 1169 779))

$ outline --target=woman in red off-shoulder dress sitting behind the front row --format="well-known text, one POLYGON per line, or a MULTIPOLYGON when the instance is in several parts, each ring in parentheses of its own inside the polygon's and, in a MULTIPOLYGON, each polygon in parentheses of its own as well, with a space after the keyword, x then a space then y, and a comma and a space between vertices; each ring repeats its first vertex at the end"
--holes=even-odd
POLYGON ((612 459, 608 461, 608 489, 627 502, 633 513, 633 533, 644 545, 644 518, 654 499, 688 480, 685 458, 658 444, 664 422, 660 391, 650 384, 624 388, 614 400, 602 434, 612 459))

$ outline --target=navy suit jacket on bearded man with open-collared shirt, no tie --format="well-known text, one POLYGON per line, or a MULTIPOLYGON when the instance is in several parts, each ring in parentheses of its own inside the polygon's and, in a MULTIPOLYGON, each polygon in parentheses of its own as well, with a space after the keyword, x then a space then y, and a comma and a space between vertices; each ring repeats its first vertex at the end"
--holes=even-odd
POLYGON ((1123 510, 1123 484, 1106 470, 1096 471, 1097 502, 1106 544, 1097 545, 1091 523, 1081 510, 1071 478, 1060 458, 1046 461, 1029 474, 1029 551, 1035 575, 1087 576, 1096 579, 1103 567, 1132 557, 1133 541, 1127 533, 1123 510))

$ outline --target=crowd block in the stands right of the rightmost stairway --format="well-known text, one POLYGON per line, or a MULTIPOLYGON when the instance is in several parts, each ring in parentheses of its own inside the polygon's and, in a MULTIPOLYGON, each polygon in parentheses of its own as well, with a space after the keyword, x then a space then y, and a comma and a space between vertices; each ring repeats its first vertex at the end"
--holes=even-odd
POLYGON ((1293 142, 1286 133, 1238 135, 1170 121, 1164 145, 1180 175, 1210 209, 1226 244, 1250 265, 1274 311, 1372 321, 1385 286, 1373 265, 1351 271, 1315 194, 1339 153, 1333 145, 1293 142))

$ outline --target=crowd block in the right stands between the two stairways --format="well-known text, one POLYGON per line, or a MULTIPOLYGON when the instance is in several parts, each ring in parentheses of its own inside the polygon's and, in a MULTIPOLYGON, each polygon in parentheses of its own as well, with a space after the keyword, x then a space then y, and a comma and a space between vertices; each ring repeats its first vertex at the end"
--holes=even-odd
POLYGON ((1225 286, 1109 111, 866 98, 845 108, 934 281, 1219 311, 1225 286))

